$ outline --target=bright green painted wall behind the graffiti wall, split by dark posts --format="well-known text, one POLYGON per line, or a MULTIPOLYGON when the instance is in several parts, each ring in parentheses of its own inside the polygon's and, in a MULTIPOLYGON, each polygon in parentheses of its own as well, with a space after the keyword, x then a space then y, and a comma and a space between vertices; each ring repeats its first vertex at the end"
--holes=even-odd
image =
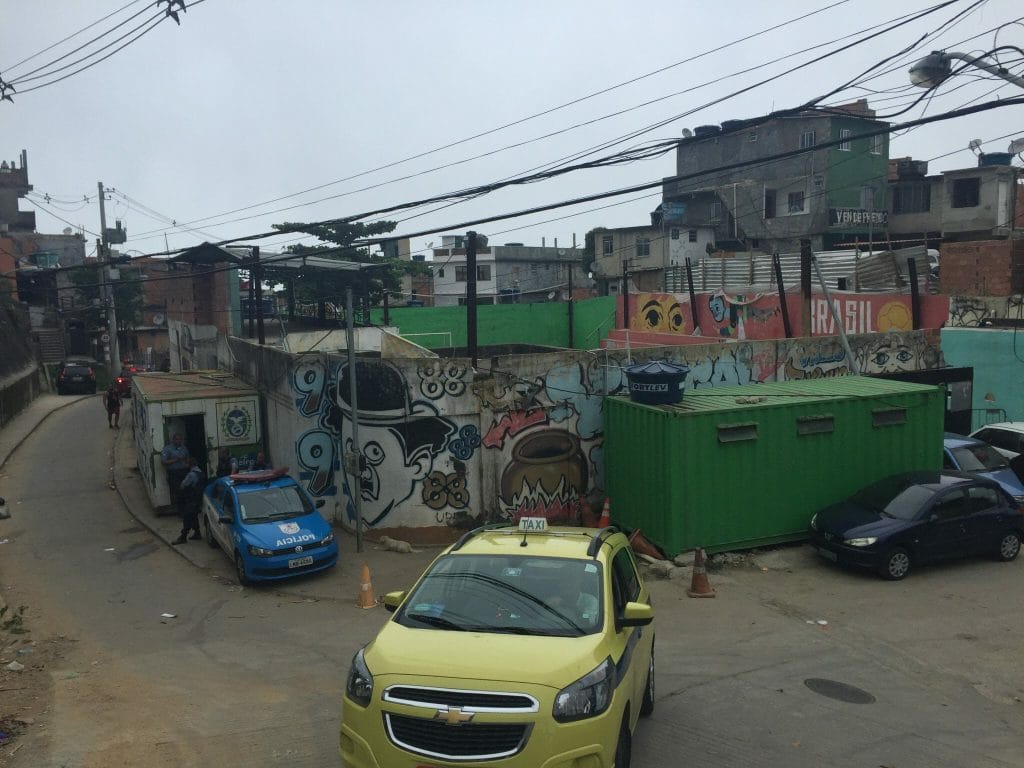
MULTIPOLYGON (((398 333, 427 349, 466 346, 466 307, 395 307, 389 322, 398 333)), ((384 324, 384 310, 374 309, 375 324, 384 324)), ((573 304, 573 347, 596 349, 614 325, 615 298, 605 296, 573 304)), ((476 339, 480 346, 540 344, 569 346, 568 305, 485 304, 477 308, 476 339)))

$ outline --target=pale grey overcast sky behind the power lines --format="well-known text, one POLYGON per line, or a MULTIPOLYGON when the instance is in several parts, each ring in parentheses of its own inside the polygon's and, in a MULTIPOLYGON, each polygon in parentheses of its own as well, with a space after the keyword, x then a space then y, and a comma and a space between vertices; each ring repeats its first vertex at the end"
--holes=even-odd
MULTIPOLYGON (((0 158, 10 161, 28 151, 35 202, 22 207, 37 211, 39 231, 84 229, 91 252, 99 229, 96 182, 102 181, 116 190, 106 203, 108 225, 121 219, 129 232, 124 250, 180 249, 264 232, 285 221, 374 211, 583 153, 593 159, 678 137, 684 128, 794 106, 916 45, 863 88, 825 100, 866 96, 886 115, 921 95, 910 89, 906 71, 932 49, 1024 48, 1019 0, 961 0, 824 57, 933 5, 203 0, 179 12, 180 26, 168 18, 77 72, 98 56, 77 59, 104 45, 110 47, 99 56, 106 55, 137 35, 115 42, 154 17, 156 3, 0 0, 0 79, 17 90, 13 102, 0 101, 0 158), (783 26, 769 31, 777 25, 783 26), (933 34, 922 41, 927 33, 933 34), (819 47, 800 52, 811 46, 819 47), (782 56, 790 57, 770 63, 782 56), (811 63, 785 74, 805 62, 811 63), (751 71, 737 74, 743 70, 751 71), (763 80, 770 82, 699 109, 763 80), (654 125, 659 127, 646 130, 654 125)), ((1024 74, 1020 53, 997 55, 1024 74)), ((893 122, 1024 96, 1018 86, 971 72, 893 122)), ((1009 106, 898 135, 890 157, 944 156, 932 160, 934 173, 975 165, 971 139, 984 141, 985 151, 1005 152, 1019 136, 1024 106, 1009 106)), ((475 228, 495 244, 540 246, 543 240, 551 246, 557 240, 564 247, 574 238, 582 246, 596 226, 648 223, 659 191, 460 225, 674 172, 669 153, 388 218, 399 222, 396 236, 475 228)), ((294 237, 258 244, 272 251, 290 242, 294 237)), ((439 245, 440 233, 414 238, 413 248, 429 243, 439 245)))

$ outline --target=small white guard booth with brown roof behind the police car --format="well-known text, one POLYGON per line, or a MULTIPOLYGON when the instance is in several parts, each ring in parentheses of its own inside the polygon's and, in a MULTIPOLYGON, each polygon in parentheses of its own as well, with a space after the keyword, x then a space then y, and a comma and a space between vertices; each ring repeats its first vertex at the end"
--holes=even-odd
POLYGON ((221 447, 240 469, 263 451, 256 390, 222 371, 136 374, 131 410, 138 469, 158 513, 171 504, 160 454, 175 434, 181 435, 208 477, 214 474, 221 447))

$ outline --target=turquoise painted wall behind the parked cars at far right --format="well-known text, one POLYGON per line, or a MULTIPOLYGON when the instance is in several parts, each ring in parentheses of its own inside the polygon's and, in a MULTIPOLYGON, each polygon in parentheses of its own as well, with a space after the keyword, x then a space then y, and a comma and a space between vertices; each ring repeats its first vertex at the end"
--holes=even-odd
POLYGON ((940 338, 947 366, 974 369, 972 428, 1002 421, 998 411, 1007 421, 1024 421, 1024 332, 944 328, 940 338))

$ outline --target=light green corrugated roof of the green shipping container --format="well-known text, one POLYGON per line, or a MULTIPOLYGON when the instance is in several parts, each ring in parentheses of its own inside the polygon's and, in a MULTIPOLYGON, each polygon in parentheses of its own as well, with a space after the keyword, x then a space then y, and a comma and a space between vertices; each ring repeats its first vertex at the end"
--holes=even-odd
MULTIPOLYGON (((748 407, 792 406, 798 402, 821 402, 848 397, 872 397, 886 394, 933 391, 936 385, 910 384, 903 381, 874 379, 869 376, 834 376, 825 379, 793 379, 790 381, 745 384, 733 387, 706 387, 687 390, 682 400, 659 408, 677 415, 713 411, 735 412, 748 407)), ((624 398, 625 399, 625 398, 624 398)), ((639 404, 639 403, 637 403, 639 404)))

